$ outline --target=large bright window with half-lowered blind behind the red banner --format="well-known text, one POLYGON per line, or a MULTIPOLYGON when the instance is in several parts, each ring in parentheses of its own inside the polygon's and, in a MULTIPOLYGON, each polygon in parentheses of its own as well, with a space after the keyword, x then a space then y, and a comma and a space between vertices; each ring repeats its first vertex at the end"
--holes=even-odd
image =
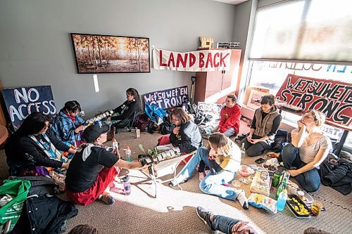
MULTIPOLYGON (((352 84, 350 4, 350 0, 297 0, 258 8, 247 84, 274 95, 287 74, 352 84)), ((289 112, 282 116, 293 123, 299 119, 289 112)), ((328 125, 322 130, 332 139, 344 131, 328 125)), ((345 146, 352 149, 352 138, 345 146)))

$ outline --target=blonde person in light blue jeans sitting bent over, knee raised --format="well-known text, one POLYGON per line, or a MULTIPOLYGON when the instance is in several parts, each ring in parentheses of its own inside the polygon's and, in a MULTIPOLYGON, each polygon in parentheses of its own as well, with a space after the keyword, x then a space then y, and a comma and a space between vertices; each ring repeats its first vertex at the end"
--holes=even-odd
POLYGON ((244 190, 222 185, 232 181, 241 164, 241 150, 224 134, 211 134, 208 147, 199 148, 182 169, 180 175, 169 185, 173 187, 186 182, 201 160, 210 168, 210 173, 199 183, 202 192, 217 195, 227 200, 239 200, 241 206, 248 209, 248 200, 244 190))

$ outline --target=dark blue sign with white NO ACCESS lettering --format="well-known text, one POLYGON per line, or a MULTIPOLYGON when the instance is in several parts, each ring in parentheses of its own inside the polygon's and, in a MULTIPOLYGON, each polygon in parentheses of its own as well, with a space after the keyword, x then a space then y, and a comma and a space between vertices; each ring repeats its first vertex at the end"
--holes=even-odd
POLYGON ((32 112, 42 112, 49 117, 56 115, 53 93, 49 85, 3 89, 2 95, 15 130, 32 112))

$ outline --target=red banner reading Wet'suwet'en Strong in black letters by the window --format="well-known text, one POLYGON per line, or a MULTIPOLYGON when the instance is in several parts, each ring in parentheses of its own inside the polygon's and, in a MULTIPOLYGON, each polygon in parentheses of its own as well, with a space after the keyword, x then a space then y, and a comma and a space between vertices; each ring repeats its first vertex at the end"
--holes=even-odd
POLYGON ((276 95, 279 100, 327 115, 327 124, 352 130, 352 84, 289 74, 276 95))

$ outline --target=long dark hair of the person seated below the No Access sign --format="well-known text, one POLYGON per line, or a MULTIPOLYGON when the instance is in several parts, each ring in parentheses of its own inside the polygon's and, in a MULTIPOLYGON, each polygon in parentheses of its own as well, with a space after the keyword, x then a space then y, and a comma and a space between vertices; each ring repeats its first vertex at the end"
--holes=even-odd
POLYGON ((39 133, 39 131, 42 131, 42 129, 44 129, 44 127, 46 126, 45 122, 49 120, 49 117, 47 117, 43 113, 33 112, 25 118, 20 128, 15 131, 13 135, 27 136, 37 134, 39 133))

